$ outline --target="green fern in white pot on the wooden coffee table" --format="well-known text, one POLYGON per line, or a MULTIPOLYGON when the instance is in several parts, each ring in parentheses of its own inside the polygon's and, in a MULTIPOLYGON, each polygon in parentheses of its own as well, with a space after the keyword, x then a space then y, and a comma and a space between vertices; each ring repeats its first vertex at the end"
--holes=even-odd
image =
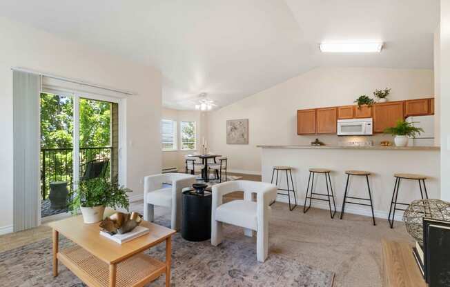
POLYGON ((131 190, 119 186, 117 177, 112 181, 105 177, 80 181, 77 190, 70 196, 69 210, 74 215, 81 210, 84 223, 92 224, 103 219, 106 207, 128 210, 130 202, 127 192, 131 190))

